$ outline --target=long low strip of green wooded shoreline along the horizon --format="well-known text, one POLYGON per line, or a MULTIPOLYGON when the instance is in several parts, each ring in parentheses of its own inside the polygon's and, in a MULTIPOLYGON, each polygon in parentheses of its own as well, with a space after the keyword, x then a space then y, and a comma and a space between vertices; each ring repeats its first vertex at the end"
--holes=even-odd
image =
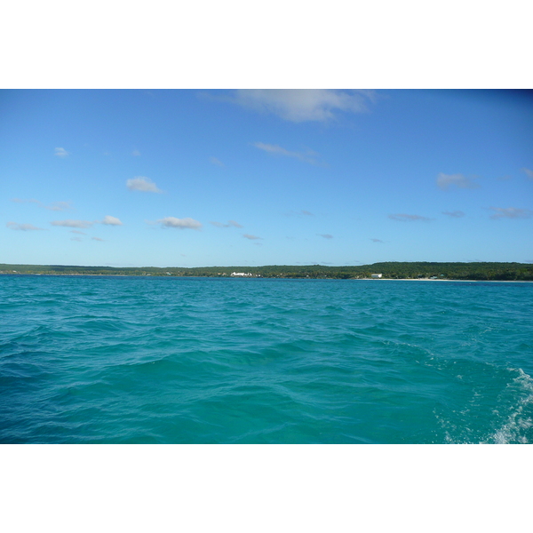
POLYGON ((4 265, 0 274, 48 275, 152 275, 229 277, 234 272, 264 278, 362 279, 383 274, 384 279, 432 278, 447 280, 533 281, 533 264, 526 263, 434 263, 386 262, 358 267, 68 267, 64 265, 4 265))

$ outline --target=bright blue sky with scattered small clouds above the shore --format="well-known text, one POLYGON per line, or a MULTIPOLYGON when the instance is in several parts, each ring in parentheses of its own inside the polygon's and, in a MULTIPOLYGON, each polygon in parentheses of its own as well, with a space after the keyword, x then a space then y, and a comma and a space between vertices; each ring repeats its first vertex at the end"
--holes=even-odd
POLYGON ((521 91, 0 91, 0 262, 533 262, 521 91))

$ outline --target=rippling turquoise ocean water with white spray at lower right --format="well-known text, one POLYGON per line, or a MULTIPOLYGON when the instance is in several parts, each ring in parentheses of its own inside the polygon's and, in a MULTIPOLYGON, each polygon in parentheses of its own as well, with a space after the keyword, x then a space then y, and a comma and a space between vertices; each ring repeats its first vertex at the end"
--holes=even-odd
POLYGON ((533 283, 0 276, 2 443, 531 443, 533 283))

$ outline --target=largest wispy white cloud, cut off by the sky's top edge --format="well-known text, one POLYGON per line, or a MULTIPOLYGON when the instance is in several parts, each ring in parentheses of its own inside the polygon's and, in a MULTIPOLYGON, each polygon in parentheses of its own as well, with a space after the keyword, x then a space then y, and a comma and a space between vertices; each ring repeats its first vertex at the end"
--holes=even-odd
POLYGON ((333 91, 330 89, 242 89, 228 100, 262 113, 273 113, 283 120, 300 123, 325 122, 339 112, 368 111, 373 91, 333 91))

